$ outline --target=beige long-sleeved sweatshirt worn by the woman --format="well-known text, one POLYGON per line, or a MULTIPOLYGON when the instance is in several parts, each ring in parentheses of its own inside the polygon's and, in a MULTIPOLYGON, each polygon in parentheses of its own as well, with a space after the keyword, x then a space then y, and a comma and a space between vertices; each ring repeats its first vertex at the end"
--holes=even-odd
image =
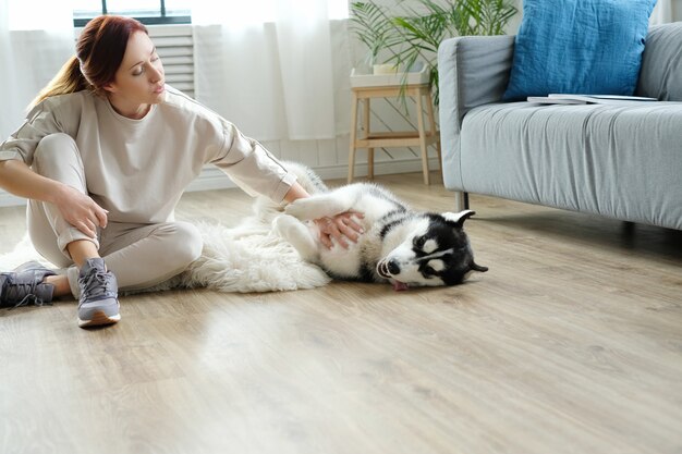
POLYGON ((81 151, 90 197, 114 222, 172 220, 183 191, 209 162, 251 195, 283 199, 293 174, 233 124, 166 88, 165 101, 141 120, 120 115, 89 91, 50 97, 0 145, 0 160, 31 165, 42 137, 69 134, 81 151))

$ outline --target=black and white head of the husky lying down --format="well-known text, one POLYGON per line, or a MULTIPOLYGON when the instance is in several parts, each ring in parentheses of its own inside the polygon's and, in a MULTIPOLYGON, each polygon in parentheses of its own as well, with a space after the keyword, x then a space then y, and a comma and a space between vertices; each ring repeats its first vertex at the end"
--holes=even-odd
POLYGON ((429 213, 421 219, 404 241, 377 265, 377 273, 395 290, 462 283, 470 271, 487 271, 474 262, 462 224, 474 214, 429 213))

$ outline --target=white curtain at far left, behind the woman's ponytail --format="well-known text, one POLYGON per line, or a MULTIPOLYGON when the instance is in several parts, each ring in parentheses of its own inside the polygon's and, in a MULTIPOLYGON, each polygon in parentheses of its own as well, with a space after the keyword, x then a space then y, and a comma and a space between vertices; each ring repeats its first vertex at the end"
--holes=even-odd
POLYGON ((0 142, 74 53, 70 0, 0 0, 0 142))

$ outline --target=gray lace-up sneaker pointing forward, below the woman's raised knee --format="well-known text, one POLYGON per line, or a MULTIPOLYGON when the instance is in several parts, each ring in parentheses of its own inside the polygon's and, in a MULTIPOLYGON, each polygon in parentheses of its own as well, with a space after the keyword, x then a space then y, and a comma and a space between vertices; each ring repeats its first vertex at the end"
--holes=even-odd
POLYGON ((111 324, 121 320, 119 285, 113 273, 107 271, 103 259, 85 260, 78 273, 78 327, 111 324))

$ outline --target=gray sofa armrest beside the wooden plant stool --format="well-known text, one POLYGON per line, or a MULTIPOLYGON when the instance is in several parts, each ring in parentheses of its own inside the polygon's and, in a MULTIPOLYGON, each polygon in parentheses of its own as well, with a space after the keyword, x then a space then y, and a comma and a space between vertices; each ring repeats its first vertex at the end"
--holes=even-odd
POLYGON ((460 171, 460 131, 471 109, 502 100, 514 54, 514 36, 463 36, 438 49, 440 140, 443 183, 464 191, 460 171))

